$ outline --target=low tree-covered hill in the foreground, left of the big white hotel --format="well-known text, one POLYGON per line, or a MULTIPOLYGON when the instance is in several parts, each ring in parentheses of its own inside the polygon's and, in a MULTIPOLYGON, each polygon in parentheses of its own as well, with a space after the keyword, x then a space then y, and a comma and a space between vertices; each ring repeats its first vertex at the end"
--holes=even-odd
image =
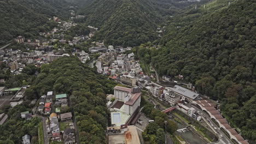
POLYGON ((80 143, 106 143, 106 94, 117 83, 96 74, 77 57, 64 57, 40 67, 40 74, 26 95, 48 91, 67 93, 71 99, 79 129, 80 143))

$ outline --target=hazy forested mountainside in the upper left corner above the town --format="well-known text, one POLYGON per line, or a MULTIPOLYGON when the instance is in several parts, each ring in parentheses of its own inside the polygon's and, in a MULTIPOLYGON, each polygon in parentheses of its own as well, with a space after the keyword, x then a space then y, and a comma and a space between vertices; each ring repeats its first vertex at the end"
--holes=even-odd
MULTIPOLYGON (((18 35, 33 37, 39 31, 54 25, 49 18, 68 18, 68 4, 61 0, 2 0, 0 1, 0 45, 18 35)), ((49 29, 48 29, 49 30, 49 29)))

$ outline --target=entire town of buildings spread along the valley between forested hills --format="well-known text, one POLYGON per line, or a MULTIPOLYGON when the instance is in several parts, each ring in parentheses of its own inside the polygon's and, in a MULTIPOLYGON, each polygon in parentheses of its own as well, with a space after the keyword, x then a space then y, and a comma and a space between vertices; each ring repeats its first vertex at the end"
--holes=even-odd
MULTIPOLYGON (((107 129, 104 132, 109 144, 144 143, 142 133, 154 120, 142 112, 142 97, 147 98, 146 100, 154 105, 154 109, 167 113, 168 116, 174 110, 182 112, 191 118, 191 121, 198 122, 211 131, 219 140, 219 144, 231 143, 232 140, 239 144, 248 143, 220 113, 218 102, 196 92, 195 86, 184 82, 182 75, 177 75, 175 80, 167 75, 158 77, 153 67, 150 67, 150 70, 154 71, 154 74, 147 75, 141 67, 142 62, 135 58, 135 53, 131 52, 132 47, 105 45, 104 41, 92 41, 88 51, 76 49, 74 45, 90 40, 98 28, 88 26, 90 29, 88 35, 77 35, 72 38, 72 41, 68 41, 63 33, 77 24, 73 21, 61 21, 58 17, 53 17, 53 21, 58 22, 59 27, 53 28, 48 33, 40 33, 43 39, 31 40, 22 35, 14 39, 15 44, 25 45, 25 50, 0 50, 2 59, 0 63, 6 64, 3 70, 10 70, 12 75, 20 75, 28 65, 40 68, 43 64, 49 64, 56 59, 75 56, 88 67, 95 68, 98 74, 119 83, 113 88, 113 93, 106 97, 109 117, 107 129), (51 38, 46 39, 46 37, 51 38), (67 52, 67 47, 62 44, 71 46, 72 50, 67 52)), ((160 29, 158 30, 162 33, 160 29)), ((161 37, 160 34, 159 37, 161 37)), ((36 75, 38 73, 37 71, 36 75)), ((0 79, 0 83, 4 82, 4 79, 0 79)), ((0 87, 0 99, 2 99, 0 106, 9 104, 15 107, 22 104, 26 96, 25 91, 29 87, 29 85, 16 88, 0 87)), ((31 121, 32 117, 42 118, 44 143, 53 141, 65 144, 79 143, 75 114, 72 109, 69 109, 70 95, 49 91, 39 99, 32 100, 32 103, 36 106, 30 111, 21 112, 20 117, 24 121, 31 121)), ((173 116, 170 114, 170 117, 173 116)), ((8 116, 5 113, 0 114, 0 124, 7 119, 8 116)), ((187 133, 186 131, 196 133, 197 130, 187 123, 186 127, 176 131, 177 133, 187 133)), ((200 134, 197 134, 197 137, 200 137, 198 135, 200 134)), ((22 141, 31 143, 31 136, 24 135, 22 141)), ((206 140, 202 141, 206 143, 206 140)))

